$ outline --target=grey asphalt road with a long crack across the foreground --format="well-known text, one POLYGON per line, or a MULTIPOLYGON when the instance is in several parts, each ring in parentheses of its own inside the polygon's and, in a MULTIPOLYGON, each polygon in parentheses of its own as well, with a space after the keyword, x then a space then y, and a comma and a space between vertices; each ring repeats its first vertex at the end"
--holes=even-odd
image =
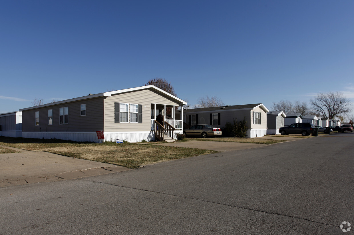
POLYGON ((354 133, 338 133, 8 186, 0 234, 344 234, 353 147, 354 133))

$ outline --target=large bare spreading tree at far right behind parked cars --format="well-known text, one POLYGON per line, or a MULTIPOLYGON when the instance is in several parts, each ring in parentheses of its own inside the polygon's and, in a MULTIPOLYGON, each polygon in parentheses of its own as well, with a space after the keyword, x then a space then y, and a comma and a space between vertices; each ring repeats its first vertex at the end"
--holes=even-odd
POLYGON ((314 111, 319 112, 322 117, 330 119, 344 116, 352 111, 352 102, 339 91, 319 93, 310 100, 310 103, 314 111))

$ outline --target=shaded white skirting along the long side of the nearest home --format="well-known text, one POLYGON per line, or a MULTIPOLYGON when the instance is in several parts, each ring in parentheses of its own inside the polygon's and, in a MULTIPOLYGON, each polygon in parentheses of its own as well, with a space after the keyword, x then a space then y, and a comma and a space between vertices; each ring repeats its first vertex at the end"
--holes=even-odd
POLYGON ((96 132, 22 132, 23 138, 34 139, 60 139, 60 140, 72 140, 78 142, 96 142, 96 132))

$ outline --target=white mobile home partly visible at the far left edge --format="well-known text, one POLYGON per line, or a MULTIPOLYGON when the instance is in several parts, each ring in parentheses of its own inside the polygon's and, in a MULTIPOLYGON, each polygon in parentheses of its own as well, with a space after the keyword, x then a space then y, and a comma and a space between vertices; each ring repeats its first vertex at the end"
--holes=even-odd
POLYGON ((0 113, 0 136, 22 137, 22 112, 0 113))

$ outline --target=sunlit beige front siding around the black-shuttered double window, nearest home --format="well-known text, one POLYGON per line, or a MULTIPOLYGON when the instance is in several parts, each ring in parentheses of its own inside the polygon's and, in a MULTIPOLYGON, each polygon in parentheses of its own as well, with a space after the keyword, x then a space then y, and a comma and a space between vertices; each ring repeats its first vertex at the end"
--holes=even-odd
MULTIPOLYGON (((151 129, 151 104, 175 105, 173 101, 154 90, 140 90, 124 94, 113 95, 104 100, 104 131, 105 132, 146 132, 151 129), (114 103, 133 103, 143 106, 143 123, 114 123, 114 103)), ((130 120, 130 116, 128 117, 130 120)))

